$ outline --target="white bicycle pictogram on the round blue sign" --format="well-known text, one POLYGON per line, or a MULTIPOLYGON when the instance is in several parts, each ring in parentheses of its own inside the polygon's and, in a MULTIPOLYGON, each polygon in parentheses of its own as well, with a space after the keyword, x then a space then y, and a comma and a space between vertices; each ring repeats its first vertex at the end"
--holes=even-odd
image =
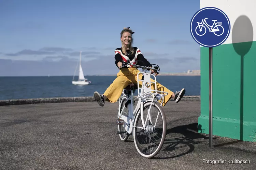
POLYGON ((222 22, 216 22, 217 20, 212 20, 214 21, 212 26, 210 26, 207 22, 206 22, 206 19, 208 18, 204 18, 202 19, 202 22, 197 22, 198 23, 198 26, 196 27, 196 34, 199 35, 199 36, 203 36, 205 33, 206 33, 206 28, 205 26, 209 29, 209 32, 213 32, 215 35, 217 36, 221 36, 223 33, 224 33, 224 28, 221 26, 222 25, 222 22), (204 26, 205 25, 205 26, 204 26), (222 33, 221 34, 217 34, 215 32, 219 32, 219 28, 218 27, 221 27, 222 28, 222 33), (199 28, 199 33, 203 33, 203 34, 198 34, 198 28, 199 28), (204 30, 204 31, 203 31, 204 30))

